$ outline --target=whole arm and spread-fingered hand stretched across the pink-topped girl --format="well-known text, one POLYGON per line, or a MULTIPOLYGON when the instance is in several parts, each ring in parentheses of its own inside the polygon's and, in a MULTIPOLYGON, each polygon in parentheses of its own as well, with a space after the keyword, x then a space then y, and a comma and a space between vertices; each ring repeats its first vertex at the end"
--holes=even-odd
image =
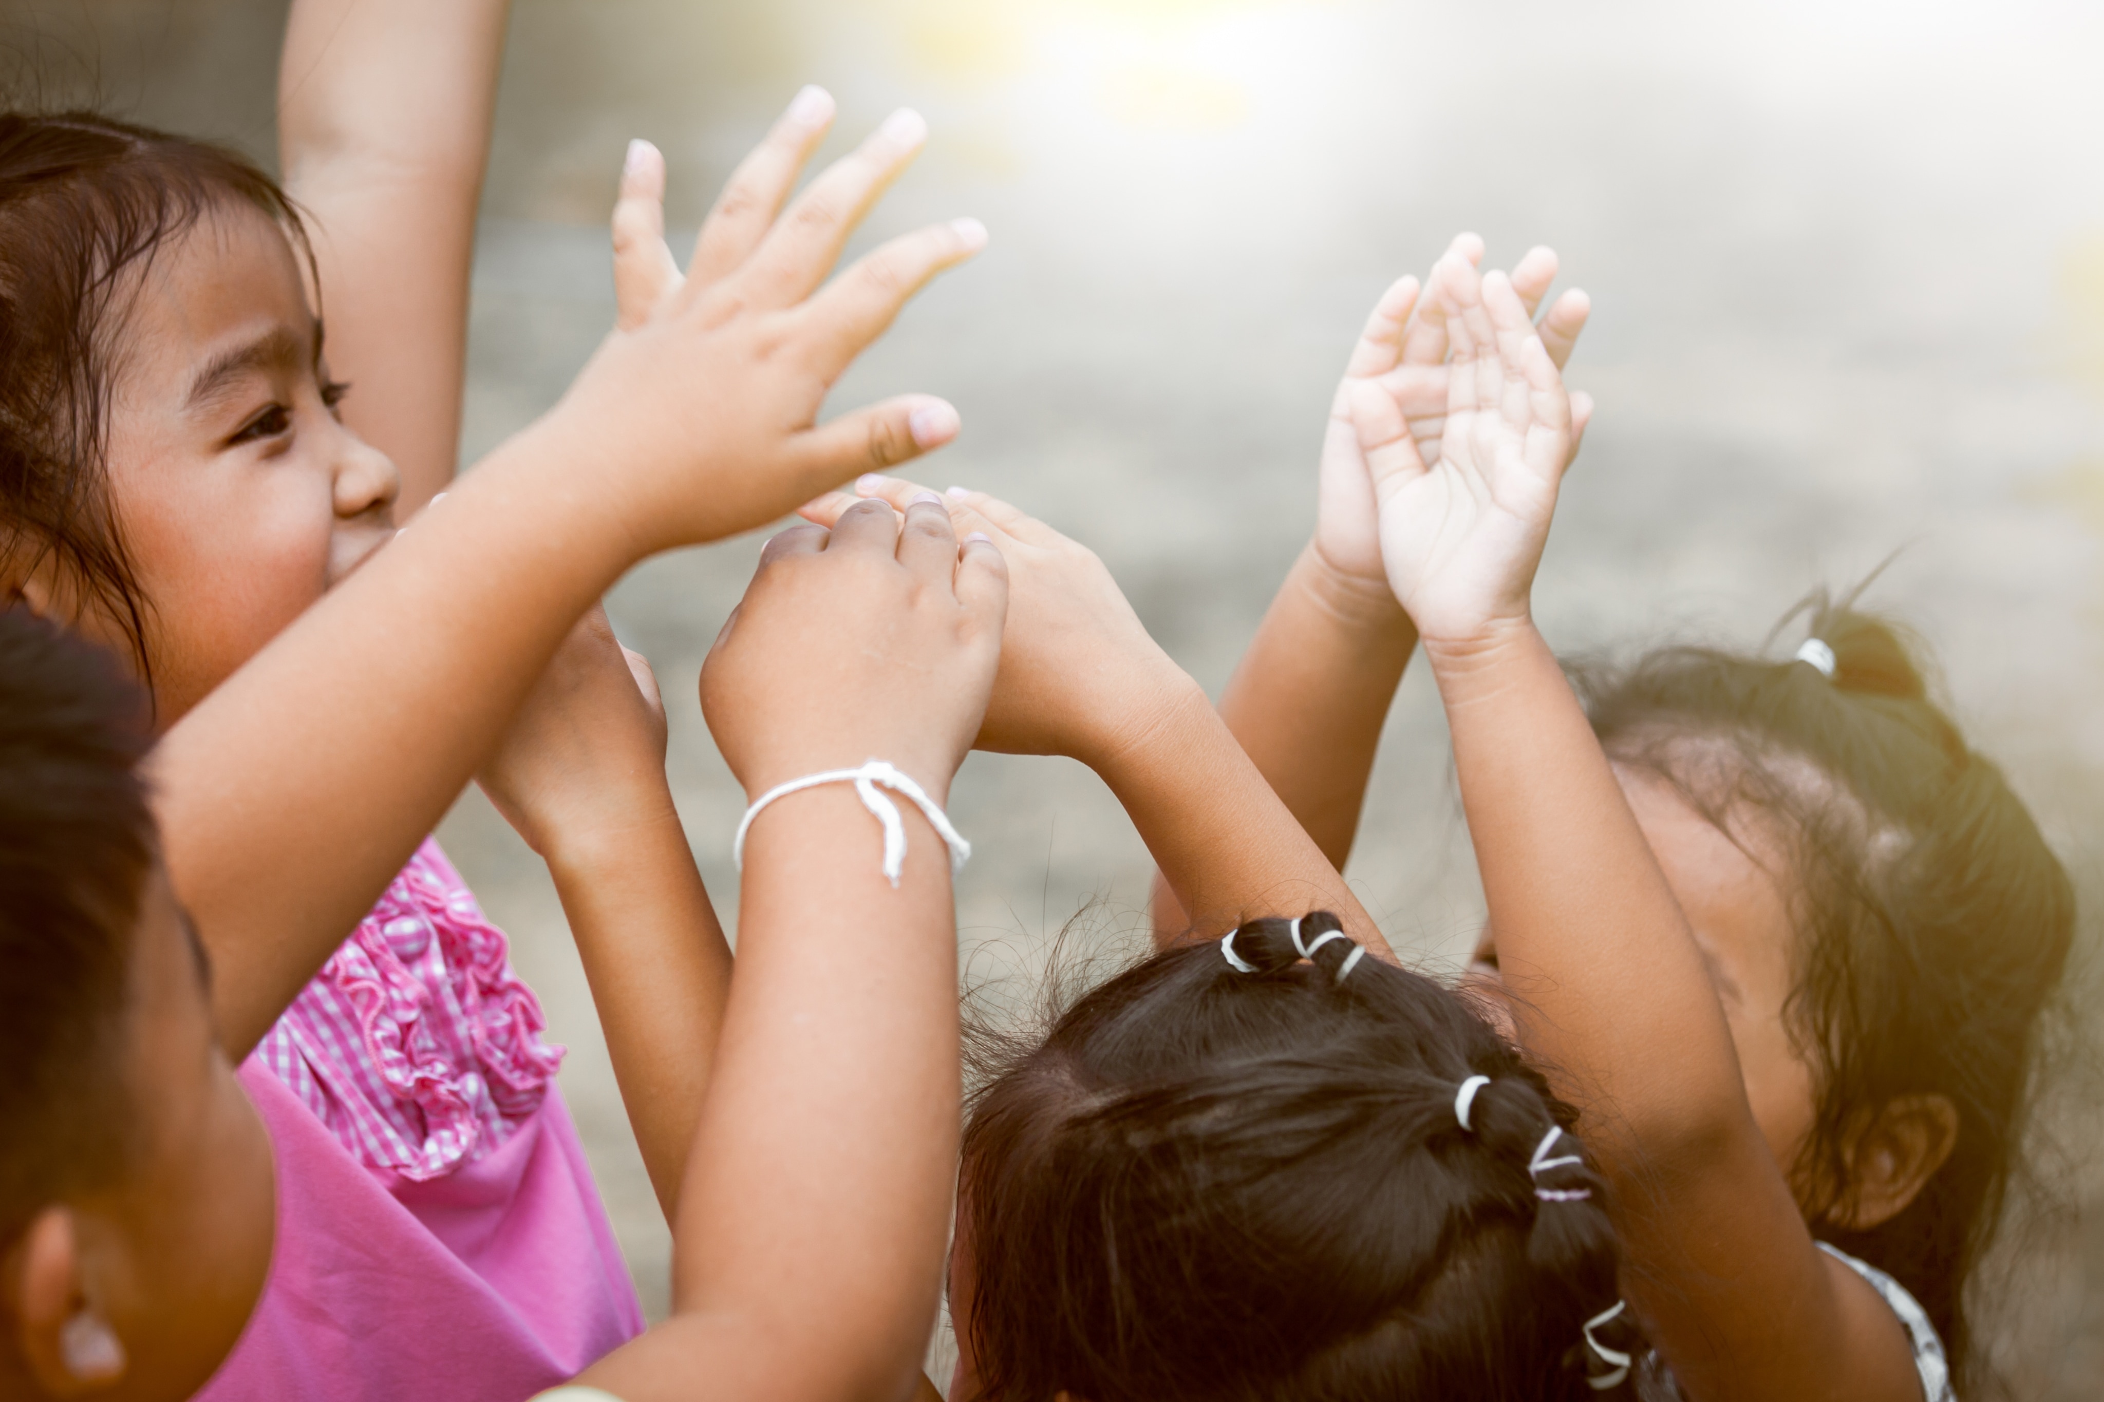
POLYGON ((812 296, 924 128, 871 137, 776 221, 772 191, 823 130, 785 118, 703 229, 696 259, 717 271, 610 334, 555 410, 160 742, 168 870, 231 1055, 370 908, 621 572, 955 435, 926 395, 814 427, 833 378, 983 238, 909 233, 812 296))

